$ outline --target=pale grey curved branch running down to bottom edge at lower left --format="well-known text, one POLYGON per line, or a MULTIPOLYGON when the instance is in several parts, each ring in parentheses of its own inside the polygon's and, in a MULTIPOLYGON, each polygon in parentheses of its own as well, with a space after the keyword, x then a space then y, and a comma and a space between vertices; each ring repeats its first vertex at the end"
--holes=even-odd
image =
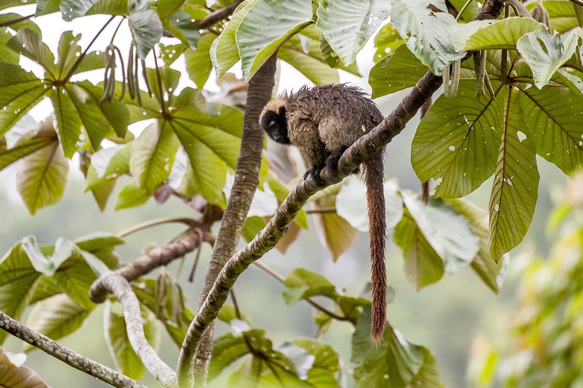
POLYGON ((140 302, 128 281, 113 271, 101 275, 102 284, 108 291, 114 293, 121 303, 124 313, 125 330, 128 333, 129 343, 142 360, 148 372, 165 387, 176 387, 178 382, 176 373, 170 366, 160 359, 156 351, 150 346, 144 334, 140 302))

